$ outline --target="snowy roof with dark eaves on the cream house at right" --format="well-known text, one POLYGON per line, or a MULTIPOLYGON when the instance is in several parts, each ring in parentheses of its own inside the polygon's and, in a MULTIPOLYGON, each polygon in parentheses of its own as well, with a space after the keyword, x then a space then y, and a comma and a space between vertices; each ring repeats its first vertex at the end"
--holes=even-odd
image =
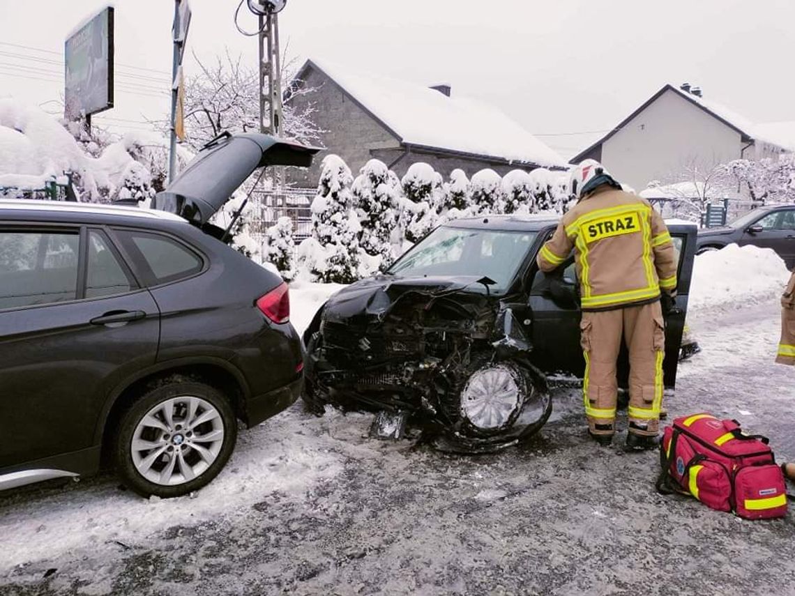
POLYGON ((795 122, 754 124, 754 122, 751 122, 744 116, 737 114, 737 112, 734 110, 723 106, 721 103, 714 102, 712 99, 704 99, 704 97, 684 91, 676 85, 666 83, 665 86, 660 89, 660 91, 657 91, 657 93, 652 95, 650 99, 643 103, 642 106, 638 107, 638 109, 634 110, 632 114, 624 118, 624 120, 622 120, 618 126, 615 126, 614 129, 612 129, 604 137, 600 138, 599 141, 596 141, 593 145, 590 145, 588 149, 584 149, 575 157, 572 157, 569 163, 574 164, 585 159, 585 157, 588 157, 593 149, 599 145, 602 145, 605 141, 607 141, 607 139, 619 132, 619 130, 626 126, 628 122, 630 122, 643 110, 646 110, 646 107, 650 106, 651 103, 656 101, 657 98, 659 98, 666 91, 673 91, 673 93, 676 93, 683 99, 688 100, 688 102, 692 103, 693 105, 698 106, 701 110, 704 110, 712 117, 717 118, 720 122, 723 122, 723 124, 738 132, 743 142, 764 141, 772 145, 778 145, 778 147, 781 147, 781 149, 795 151, 795 122))

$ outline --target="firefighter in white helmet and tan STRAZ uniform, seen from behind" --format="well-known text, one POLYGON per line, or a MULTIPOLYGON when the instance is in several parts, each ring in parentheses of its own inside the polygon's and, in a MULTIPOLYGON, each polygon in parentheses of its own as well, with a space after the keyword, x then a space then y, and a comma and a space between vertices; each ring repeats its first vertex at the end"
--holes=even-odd
POLYGON ((623 192, 598 161, 572 169, 577 203, 541 247, 538 266, 550 272, 575 250, 580 280, 583 393, 588 432, 601 445, 615 433, 616 360, 622 338, 630 355, 627 447, 657 445, 663 394, 665 323, 661 297, 673 304, 677 257, 661 215, 645 199, 623 192))

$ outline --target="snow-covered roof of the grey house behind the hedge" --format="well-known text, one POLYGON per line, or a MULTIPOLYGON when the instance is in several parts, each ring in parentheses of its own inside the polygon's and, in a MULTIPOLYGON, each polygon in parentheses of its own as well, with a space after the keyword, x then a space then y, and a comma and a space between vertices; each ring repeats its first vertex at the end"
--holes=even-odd
POLYGON ((509 162, 566 167, 553 149, 494 106, 477 99, 448 97, 429 87, 381 75, 356 73, 325 60, 308 69, 328 76, 405 145, 442 149, 509 162))

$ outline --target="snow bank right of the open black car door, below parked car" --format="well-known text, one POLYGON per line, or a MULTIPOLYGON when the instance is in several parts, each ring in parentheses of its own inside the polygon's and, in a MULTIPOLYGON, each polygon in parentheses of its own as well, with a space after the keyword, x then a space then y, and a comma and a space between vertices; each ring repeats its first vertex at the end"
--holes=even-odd
POLYGON ((688 310, 745 308, 774 300, 788 279, 784 261, 773 250, 730 244, 696 257, 688 310))

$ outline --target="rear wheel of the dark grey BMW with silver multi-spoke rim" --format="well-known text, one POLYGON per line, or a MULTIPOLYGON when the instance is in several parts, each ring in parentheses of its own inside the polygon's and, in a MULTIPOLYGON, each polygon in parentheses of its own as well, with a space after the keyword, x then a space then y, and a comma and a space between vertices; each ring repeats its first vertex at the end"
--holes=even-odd
POLYGON ((237 420, 209 385, 174 381, 151 389, 122 416, 116 470, 145 497, 180 497, 207 485, 235 449, 237 420))

